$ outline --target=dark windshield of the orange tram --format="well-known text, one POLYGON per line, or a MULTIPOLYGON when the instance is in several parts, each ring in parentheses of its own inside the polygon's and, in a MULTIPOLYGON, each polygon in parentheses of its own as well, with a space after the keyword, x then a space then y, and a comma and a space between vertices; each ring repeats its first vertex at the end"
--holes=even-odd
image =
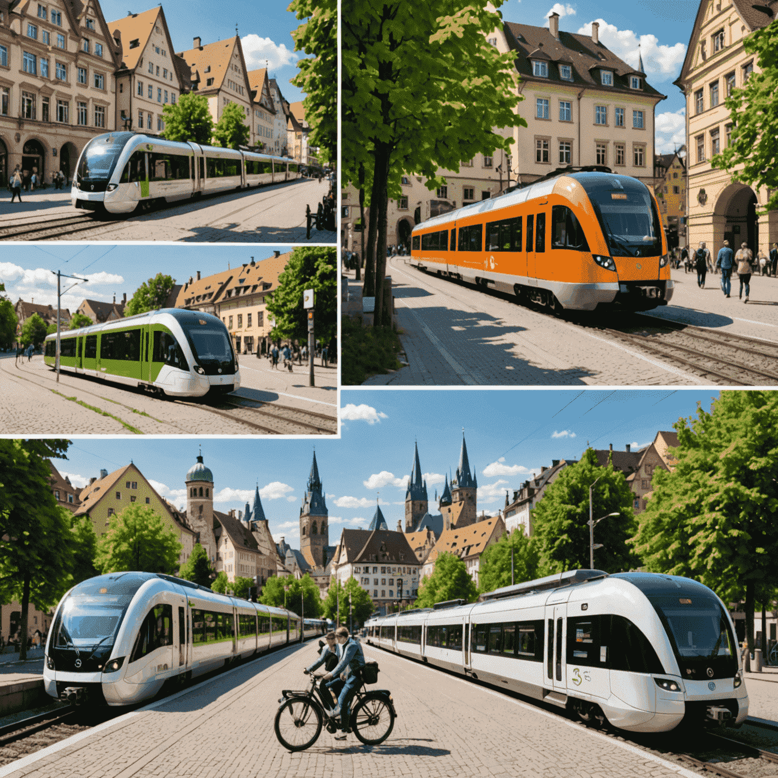
POLYGON ((639 180, 584 173, 581 184, 597 214, 613 257, 657 257, 662 227, 648 188, 639 180))

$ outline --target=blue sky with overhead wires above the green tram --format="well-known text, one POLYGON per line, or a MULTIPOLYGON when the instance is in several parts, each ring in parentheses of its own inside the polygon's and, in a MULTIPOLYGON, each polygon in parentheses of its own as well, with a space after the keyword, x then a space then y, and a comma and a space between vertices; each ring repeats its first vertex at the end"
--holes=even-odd
MULTIPOLYGON (((208 251, 198 246, 166 246, 164 244, 18 244, 12 251, 2 250, 0 283, 12 303, 19 297, 39 305, 57 305, 57 276, 61 271, 89 279, 62 296, 61 306, 75 313, 85 298, 88 300, 121 300, 124 293, 130 300, 142 282, 158 272, 173 276, 184 283, 190 275, 211 275, 244 262, 261 261, 273 256, 273 251, 289 251, 290 246, 246 246, 245 244, 209 245, 208 251)), ((62 289, 75 283, 63 279, 62 289)))

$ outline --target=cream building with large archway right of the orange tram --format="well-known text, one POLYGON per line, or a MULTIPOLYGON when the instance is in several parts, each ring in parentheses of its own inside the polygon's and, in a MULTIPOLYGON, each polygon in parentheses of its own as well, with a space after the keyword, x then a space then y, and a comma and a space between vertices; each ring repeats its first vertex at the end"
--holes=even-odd
MULTIPOLYGON (((764 7, 778 11, 778 3, 764 7)), ((724 240, 754 251, 767 251, 778 240, 778 213, 759 216, 767 202, 766 188, 736 183, 725 170, 713 170, 711 157, 726 148, 732 129, 724 100, 745 84, 755 68, 743 39, 773 19, 746 0, 703 0, 689 39, 689 48, 675 84, 686 97, 687 213, 689 245, 705 240, 715 257, 724 240)))

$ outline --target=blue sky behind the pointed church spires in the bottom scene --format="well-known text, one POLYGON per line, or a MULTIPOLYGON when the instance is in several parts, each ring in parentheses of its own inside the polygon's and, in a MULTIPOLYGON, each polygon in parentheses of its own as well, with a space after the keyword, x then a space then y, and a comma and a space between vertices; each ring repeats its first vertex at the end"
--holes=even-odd
MULTIPOLYGON (((578 459, 587 447, 633 450, 671 430, 679 416, 710 409, 710 389, 489 390, 341 392, 341 440, 82 438, 67 461, 54 464, 74 485, 100 468, 114 471, 132 459, 156 489, 185 503, 184 477, 202 445, 214 475, 216 510, 242 510, 259 486, 276 539, 299 541, 300 500, 316 447, 330 515, 330 541, 342 527, 366 527, 378 492, 389 527, 404 517, 405 485, 418 441, 430 503, 443 475, 459 462, 462 427, 478 477, 478 511, 496 513, 506 489, 518 489, 552 459, 578 459)), ((432 505, 430 505, 432 507, 432 505)))

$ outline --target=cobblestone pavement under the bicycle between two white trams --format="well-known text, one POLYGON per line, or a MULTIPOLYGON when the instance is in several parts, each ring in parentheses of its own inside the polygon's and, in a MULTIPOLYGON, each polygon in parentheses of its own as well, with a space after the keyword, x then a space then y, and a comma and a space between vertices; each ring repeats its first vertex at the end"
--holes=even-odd
POLYGON ((534 706, 366 647, 398 718, 366 748, 322 731, 289 754, 273 720, 282 689, 303 689, 315 643, 287 648, 0 768, 0 776, 84 778, 450 778, 696 776, 534 706))

